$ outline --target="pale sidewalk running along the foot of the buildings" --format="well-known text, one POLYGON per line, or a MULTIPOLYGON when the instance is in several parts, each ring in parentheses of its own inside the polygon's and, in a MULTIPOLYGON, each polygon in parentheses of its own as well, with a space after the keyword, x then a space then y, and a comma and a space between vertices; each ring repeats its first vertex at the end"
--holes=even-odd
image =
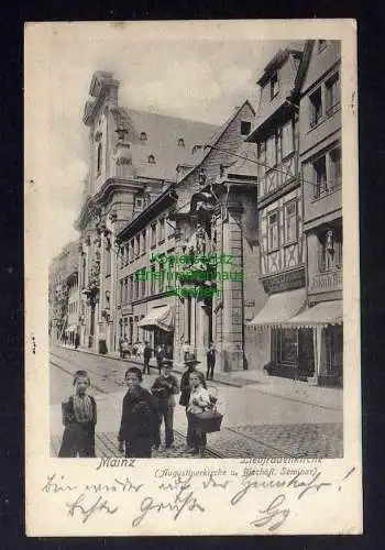
MULTIPOLYGON (((74 350, 73 346, 59 346, 68 348, 73 351, 81 353, 98 355, 99 358, 143 365, 143 359, 122 359, 120 358, 119 352, 111 352, 107 355, 101 355, 100 353, 89 350, 88 348, 74 350)), ((150 366, 157 369, 155 359, 150 361, 150 366)), ((185 366, 183 364, 174 363, 173 370, 178 374, 183 374, 185 372, 185 366)), ((285 399, 324 407, 328 409, 342 410, 343 406, 343 389, 341 388, 312 386, 307 382, 282 378, 279 376, 270 376, 262 371, 235 371, 230 373, 215 372, 213 382, 238 388, 250 386, 250 388, 253 387, 261 394, 274 395, 276 397, 283 397, 285 399)))

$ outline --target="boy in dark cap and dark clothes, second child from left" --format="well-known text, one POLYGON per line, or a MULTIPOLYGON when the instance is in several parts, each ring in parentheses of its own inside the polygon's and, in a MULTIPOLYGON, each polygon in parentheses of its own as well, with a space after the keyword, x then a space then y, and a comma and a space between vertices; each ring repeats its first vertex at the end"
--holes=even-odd
POLYGON ((150 459, 156 441, 158 415, 154 397, 141 386, 142 372, 132 366, 125 373, 128 392, 123 398, 118 436, 119 451, 127 458, 150 459))

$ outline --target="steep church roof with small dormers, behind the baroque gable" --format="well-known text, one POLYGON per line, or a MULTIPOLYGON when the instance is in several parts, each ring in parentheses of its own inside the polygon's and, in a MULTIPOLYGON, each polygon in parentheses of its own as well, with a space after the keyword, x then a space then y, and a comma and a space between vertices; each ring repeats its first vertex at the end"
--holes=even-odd
POLYGON ((136 174, 143 177, 175 180, 177 165, 199 162, 199 151, 193 155, 193 147, 205 144, 218 130, 205 122, 133 109, 121 108, 120 116, 128 125, 136 174), (141 134, 146 139, 141 140, 141 134), (151 155, 154 164, 148 163, 151 155))

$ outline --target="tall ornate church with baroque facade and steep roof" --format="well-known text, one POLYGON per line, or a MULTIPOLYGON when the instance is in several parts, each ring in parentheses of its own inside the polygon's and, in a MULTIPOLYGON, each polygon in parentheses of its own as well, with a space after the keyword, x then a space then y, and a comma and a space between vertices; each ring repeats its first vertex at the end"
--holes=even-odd
MULTIPOLYGON (((76 228, 81 233, 80 344, 117 349, 118 233, 176 178, 195 145, 217 127, 124 109, 119 81, 94 75, 84 123, 89 128, 89 174, 76 228)), ((131 257, 131 256, 130 256, 131 257)))

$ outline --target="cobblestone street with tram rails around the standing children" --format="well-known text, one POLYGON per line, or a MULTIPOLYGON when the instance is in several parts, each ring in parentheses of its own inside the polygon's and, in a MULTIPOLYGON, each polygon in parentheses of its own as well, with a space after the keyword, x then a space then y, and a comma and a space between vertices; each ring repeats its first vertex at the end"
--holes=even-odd
MULTIPOLYGON (((52 455, 57 455, 63 433, 59 403, 72 392, 70 374, 80 366, 91 374, 90 393, 98 404, 97 455, 121 457, 117 433, 125 393, 123 375, 128 364, 119 360, 57 349, 51 365, 52 455)), ((151 387, 155 376, 155 373, 146 375, 143 385, 151 387)), ((226 398, 227 413, 221 431, 207 436, 208 450, 205 458, 333 459, 343 455, 342 410, 328 408, 328 404, 309 405, 292 398, 265 395, 256 385, 239 388, 216 383, 215 386, 226 398)), ((180 406, 175 408, 174 427, 173 449, 161 447, 153 451, 153 458, 197 459, 186 453, 186 415, 180 406)))

